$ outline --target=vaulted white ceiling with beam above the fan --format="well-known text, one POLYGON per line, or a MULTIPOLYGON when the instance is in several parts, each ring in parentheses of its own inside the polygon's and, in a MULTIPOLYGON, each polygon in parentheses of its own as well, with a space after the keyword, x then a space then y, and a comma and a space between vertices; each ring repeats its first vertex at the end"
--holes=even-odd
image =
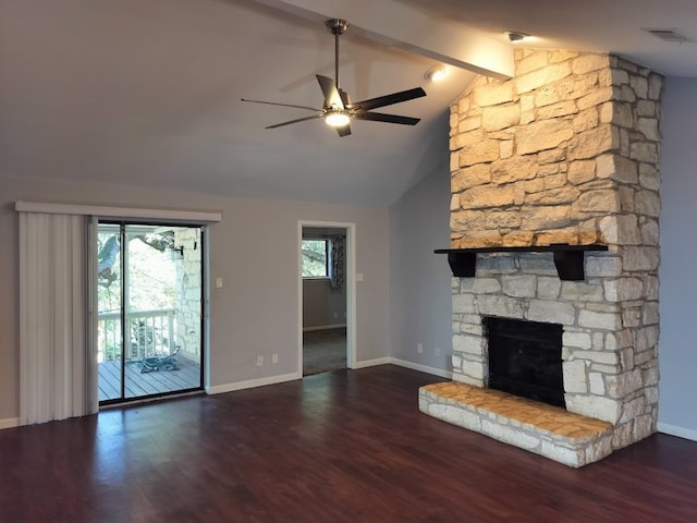
POLYGON ((697 44, 643 27, 697 40, 697 2, 0 0, 0 177, 386 205, 449 161, 448 108, 474 73, 451 66, 429 84, 427 69, 505 63, 511 29, 535 35, 529 46, 697 76, 697 44), (307 112, 240 101, 321 106, 329 16, 353 24, 342 87, 359 100, 423 86, 426 98, 380 109, 418 125, 358 121, 343 138, 319 120, 265 130, 307 112))

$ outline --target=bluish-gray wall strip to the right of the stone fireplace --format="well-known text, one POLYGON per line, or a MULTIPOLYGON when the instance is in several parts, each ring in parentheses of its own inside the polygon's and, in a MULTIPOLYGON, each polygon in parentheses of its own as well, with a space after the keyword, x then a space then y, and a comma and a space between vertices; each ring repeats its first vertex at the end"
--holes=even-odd
POLYGON ((697 80, 669 77, 661 130, 659 429, 697 439, 697 80))

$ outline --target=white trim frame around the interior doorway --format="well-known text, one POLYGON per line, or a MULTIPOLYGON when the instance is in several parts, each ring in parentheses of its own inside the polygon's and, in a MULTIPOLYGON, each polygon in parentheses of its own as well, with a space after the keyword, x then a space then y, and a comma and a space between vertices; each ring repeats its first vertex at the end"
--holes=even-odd
POLYGON ((346 366, 356 368, 356 224, 340 221, 297 222, 297 378, 303 379, 303 228, 322 227, 346 231, 346 366))

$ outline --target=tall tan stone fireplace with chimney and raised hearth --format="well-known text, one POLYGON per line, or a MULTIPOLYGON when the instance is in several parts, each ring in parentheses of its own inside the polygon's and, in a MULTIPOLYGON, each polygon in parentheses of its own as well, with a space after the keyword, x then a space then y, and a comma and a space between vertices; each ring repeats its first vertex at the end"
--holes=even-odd
POLYGON ((452 280, 453 381, 419 408, 582 466, 656 431, 662 77, 604 53, 515 58, 452 106, 451 250, 478 254, 452 280), (590 246, 580 277, 557 244, 590 246), (489 388, 489 317, 561 326, 565 410, 489 388))

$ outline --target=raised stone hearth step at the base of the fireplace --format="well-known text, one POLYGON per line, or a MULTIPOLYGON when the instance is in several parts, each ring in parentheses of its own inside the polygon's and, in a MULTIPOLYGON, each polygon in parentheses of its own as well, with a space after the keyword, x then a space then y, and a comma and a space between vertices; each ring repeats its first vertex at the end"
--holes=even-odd
POLYGON ((609 455, 613 426, 545 403, 458 381, 419 389, 419 410, 568 466, 609 455))

